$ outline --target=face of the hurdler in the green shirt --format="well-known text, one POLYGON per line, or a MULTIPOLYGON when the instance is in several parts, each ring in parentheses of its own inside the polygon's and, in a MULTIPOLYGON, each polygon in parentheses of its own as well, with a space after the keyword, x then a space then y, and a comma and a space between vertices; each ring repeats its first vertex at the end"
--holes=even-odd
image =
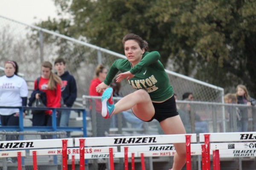
POLYGON ((128 61, 132 63, 132 66, 135 66, 142 59, 142 55, 145 52, 145 49, 141 49, 137 41, 127 40, 125 41, 125 56, 128 61))

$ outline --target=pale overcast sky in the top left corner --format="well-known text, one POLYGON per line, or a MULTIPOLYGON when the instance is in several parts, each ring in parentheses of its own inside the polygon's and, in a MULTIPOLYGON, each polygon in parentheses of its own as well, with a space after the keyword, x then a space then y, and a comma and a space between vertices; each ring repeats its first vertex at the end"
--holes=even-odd
POLYGON ((0 0, 0 15, 32 24, 56 17, 53 0, 0 0))

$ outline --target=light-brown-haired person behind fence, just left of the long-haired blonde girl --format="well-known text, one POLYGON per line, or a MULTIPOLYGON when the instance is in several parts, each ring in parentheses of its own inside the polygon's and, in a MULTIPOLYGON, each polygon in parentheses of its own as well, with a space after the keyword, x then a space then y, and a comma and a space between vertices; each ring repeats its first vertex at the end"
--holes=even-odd
MULTIPOLYGON (((237 97, 234 94, 227 93, 224 96, 224 101, 227 104, 237 104, 237 97)), ((230 129, 232 132, 241 130, 241 111, 238 107, 228 106, 227 107, 228 118, 230 121, 230 129), (236 117, 236 122, 234 122, 233 115, 236 117), (235 130, 234 130, 235 129, 235 130)))

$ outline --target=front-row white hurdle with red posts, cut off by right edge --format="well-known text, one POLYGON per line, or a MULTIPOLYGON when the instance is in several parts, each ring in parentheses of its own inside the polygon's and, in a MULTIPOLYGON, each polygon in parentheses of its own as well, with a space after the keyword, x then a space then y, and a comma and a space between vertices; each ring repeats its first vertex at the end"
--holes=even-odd
MULTIPOLYGON (((220 156, 219 150, 238 149, 241 148, 243 141, 256 141, 256 132, 238 132, 238 133, 200 133, 199 141, 204 142, 202 145, 202 167, 205 164, 205 170, 210 170, 209 150, 213 147, 213 169, 220 170, 220 156), (211 144, 210 142, 232 142, 227 144, 211 144), (233 143, 233 141, 240 141, 240 143, 233 143), (205 148, 204 148, 205 147, 205 148), (204 150, 205 149, 205 150, 204 150), (205 151, 205 153, 203 152, 205 151), (205 157, 203 162, 203 156, 205 157)), ((204 169, 203 169, 204 170, 204 169)))

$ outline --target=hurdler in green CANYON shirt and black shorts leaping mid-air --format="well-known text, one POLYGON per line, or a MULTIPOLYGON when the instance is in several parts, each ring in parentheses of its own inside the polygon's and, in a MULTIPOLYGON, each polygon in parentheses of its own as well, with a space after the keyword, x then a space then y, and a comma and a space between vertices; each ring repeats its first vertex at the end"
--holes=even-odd
MULTIPOLYGON (((102 95, 102 116, 132 109, 134 115, 143 121, 156 119, 165 134, 185 134, 185 128, 177 112, 172 86, 159 61, 159 52, 147 52, 148 43, 140 36, 128 34, 122 40, 127 59, 119 59, 112 64, 105 80, 96 87, 102 95), (126 78, 137 91, 126 95, 113 104, 113 89, 109 87, 116 76, 121 82, 126 78)), ((181 170, 186 163, 185 143, 174 144, 176 154, 172 170, 181 170)))

